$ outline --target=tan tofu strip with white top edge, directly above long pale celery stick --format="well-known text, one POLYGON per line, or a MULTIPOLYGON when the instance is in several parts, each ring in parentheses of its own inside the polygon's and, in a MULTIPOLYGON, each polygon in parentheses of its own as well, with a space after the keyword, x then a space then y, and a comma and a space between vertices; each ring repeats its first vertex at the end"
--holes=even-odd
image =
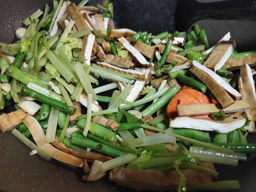
POLYGON ((111 71, 116 71, 119 73, 125 73, 125 74, 130 74, 135 76, 136 80, 139 81, 145 81, 146 80, 146 76, 144 73, 140 72, 140 71, 136 71, 133 69, 124 69, 124 68, 120 68, 114 65, 111 65, 109 63, 106 62, 97 62, 97 65, 106 69, 109 69, 111 71))

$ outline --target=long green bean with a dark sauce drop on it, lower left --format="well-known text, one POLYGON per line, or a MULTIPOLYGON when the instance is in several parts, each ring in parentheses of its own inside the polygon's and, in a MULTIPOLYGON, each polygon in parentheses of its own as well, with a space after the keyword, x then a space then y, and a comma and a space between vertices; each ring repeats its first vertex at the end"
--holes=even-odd
POLYGON ((112 156, 112 157, 119 157, 119 156, 123 156, 126 154, 123 151, 120 151, 116 148, 112 148, 108 145, 98 143, 98 142, 96 142, 92 139, 88 139, 86 137, 84 137, 84 139, 81 139, 78 137, 72 137, 70 141, 71 141, 71 144, 76 145, 78 147, 90 148, 94 151, 98 151, 102 154, 112 156))

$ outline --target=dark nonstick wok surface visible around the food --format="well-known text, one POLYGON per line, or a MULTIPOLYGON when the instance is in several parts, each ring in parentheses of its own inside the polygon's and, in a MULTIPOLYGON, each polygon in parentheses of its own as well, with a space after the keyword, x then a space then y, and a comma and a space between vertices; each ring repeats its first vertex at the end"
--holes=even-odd
MULTIPOLYGON (((132 1, 132 0, 131 0, 132 1)), ((204 1, 204 0, 201 0, 204 1)), ((212 1, 212 0, 210 0, 212 1)), ((78 0, 73 0, 78 3, 78 0)), ((136 1, 132 1, 136 2, 136 1)), ((138 2, 138 1, 137 1, 138 2)), ((157 1, 158 2, 158 1, 157 1)), ((160 2, 160 1, 159 1, 160 2)), ((161 1, 162 2, 162 1, 161 1)), ((170 1, 168 1, 170 2, 170 1)), ((238 0, 237 0, 238 2, 238 0)), ((244 0, 243 2, 247 2, 244 0)), ((5 43, 14 42, 14 31, 21 27, 21 21, 35 12, 38 8, 44 9, 45 4, 52 6, 51 0, 9 0, 0 1, 0 41, 5 43)), ((102 3, 101 0, 91 0, 88 5, 96 6, 97 3, 102 3)), ((233 3, 236 3, 233 1, 233 3)), ((145 4, 144 4, 145 5, 145 4)), ((172 6, 168 4, 166 6, 172 6)), ((123 6, 120 4, 120 6, 123 6)), ((115 9, 118 9, 118 7, 115 9)), ((120 8, 121 9, 121 8, 120 8)), ((154 9, 153 12, 160 11, 154 9)), ((114 10, 115 12, 115 10, 114 10)), ((137 12, 137 17, 142 17, 143 12, 137 12)), ((149 14, 149 13, 148 13, 149 14)), ((167 13, 166 13, 167 14, 167 13)), ((218 19, 225 19, 224 14, 218 19)), ((236 16, 237 17, 237 16, 236 16)), ((202 16, 202 18, 205 18, 202 16)), ((198 18, 197 18, 198 19, 198 18)), ((200 18, 199 18, 200 19, 200 18)), ((216 18, 215 18, 216 19, 216 18)), ((232 19, 232 18, 226 18, 232 19)), ((237 19, 237 18, 233 18, 237 19)), ((143 20, 137 20, 137 24, 143 26, 141 30, 150 28, 145 26, 143 20)), ((121 21, 119 21, 121 22, 121 21)), ((133 21, 133 22, 136 22, 133 21)), ((159 22, 166 23, 166 20, 159 22)), ((225 32, 230 31, 232 38, 236 40, 237 50, 251 51, 256 50, 256 22, 255 21, 234 21, 234 20, 201 20, 197 22, 199 26, 205 29, 210 45, 213 45, 225 32)), ((186 23, 187 24, 187 23, 186 23)), ((169 30, 168 26, 160 31, 169 30)), ((237 73, 236 73, 237 75, 237 73)), ((106 84, 106 82, 100 82, 106 84)), ((102 95, 109 95, 109 92, 102 95)), ((102 105, 101 105, 102 106, 102 105)), ((106 106, 105 106, 106 107, 106 106)), ((104 106, 103 106, 104 108, 104 106)), ((9 113, 14 110, 10 106, 1 113, 9 113)), ((255 135, 250 134, 249 142, 255 143, 255 135)), ((73 169, 56 160, 50 162, 44 161, 37 155, 29 156, 30 149, 14 137, 10 132, 0 134, 0 191, 8 192, 24 192, 24 191, 131 191, 132 189, 124 188, 108 181, 106 176, 104 179, 84 183, 82 176, 84 172, 82 169, 73 169)), ((236 180, 241 184, 240 192, 255 192, 256 189, 256 156, 249 155, 247 162, 239 162, 238 167, 216 164, 216 170, 220 173, 219 180, 236 180)))

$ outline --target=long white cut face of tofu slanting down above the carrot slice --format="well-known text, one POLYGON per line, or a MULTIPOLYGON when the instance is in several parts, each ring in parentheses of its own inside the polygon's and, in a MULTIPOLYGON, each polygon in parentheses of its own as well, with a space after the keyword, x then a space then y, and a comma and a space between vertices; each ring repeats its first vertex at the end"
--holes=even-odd
POLYGON ((233 87, 231 87, 231 85, 228 84, 224 79, 222 79, 218 74, 214 73, 211 69, 205 67, 204 65, 201 65, 195 60, 192 61, 192 65, 196 68, 201 69, 202 71, 204 71, 204 73, 212 77, 212 79, 214 79, 217 84, 219 84, 223 89, 225 89, 236 101, 240 100, 241 94, 238 91, 236 91, 233 87))

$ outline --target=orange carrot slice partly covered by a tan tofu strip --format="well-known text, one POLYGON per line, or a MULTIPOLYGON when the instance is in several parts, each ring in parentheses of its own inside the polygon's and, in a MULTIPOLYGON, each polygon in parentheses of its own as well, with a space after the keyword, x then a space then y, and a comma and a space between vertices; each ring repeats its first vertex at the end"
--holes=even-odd
MULTIPOLYGON (((183 86, 184 87, 184 86, 183 86)), ((169 118, 178 116, 176 107, 178 105, 195 105, 195 104, 209 104, 212 103, 211 100, 204 95, 204 93, 199 92, 191 88, 183 88, 170 100, 167 106, 167 115, 169 118)), ((200 118, 211 118, 211 115, 197 115, 194 117, 200 118)))

